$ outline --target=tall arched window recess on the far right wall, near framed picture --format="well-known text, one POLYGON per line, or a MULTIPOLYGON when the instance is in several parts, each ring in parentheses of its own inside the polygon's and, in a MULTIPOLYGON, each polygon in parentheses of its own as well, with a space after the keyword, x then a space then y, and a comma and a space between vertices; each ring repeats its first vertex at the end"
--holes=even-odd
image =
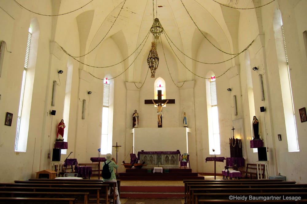
POLYGON ((288 151, 299 152, 300 150, 298 146, 286 40, 282 27, 282 16, 280 10, 276 9, 274 12, 273 26, 279 68, 279 79, 282 92, 282 104, 285 117, 288 151))

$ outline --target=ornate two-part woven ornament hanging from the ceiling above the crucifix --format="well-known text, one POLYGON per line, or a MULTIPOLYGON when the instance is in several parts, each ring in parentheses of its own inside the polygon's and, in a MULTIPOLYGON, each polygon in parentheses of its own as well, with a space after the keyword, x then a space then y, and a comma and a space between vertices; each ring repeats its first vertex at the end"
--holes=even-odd
POLYGON ((157 40, 159 39, 161 33, 163 32, 163 27, 158 18, 153 20, 153 25, 150 28, 150 32, 153 34, 153 42, 151 43, 151 49, 147 57, 147 64, 150 68, 151 78, 155 77, 156 70, 159 65, 159 56, 157 52, 157 40))

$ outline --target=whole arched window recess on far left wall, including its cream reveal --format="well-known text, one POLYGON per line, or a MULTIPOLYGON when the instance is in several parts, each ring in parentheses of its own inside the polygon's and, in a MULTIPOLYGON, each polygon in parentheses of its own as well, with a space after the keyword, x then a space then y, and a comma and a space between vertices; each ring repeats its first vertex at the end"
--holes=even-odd
POLYGON ((15 151, 18 152, 26 152, 27 150, 38 38, 38 22, 37 19, 32 19, 28 30, 25 63, 22 71, 21 91, 17 115, 15 151))

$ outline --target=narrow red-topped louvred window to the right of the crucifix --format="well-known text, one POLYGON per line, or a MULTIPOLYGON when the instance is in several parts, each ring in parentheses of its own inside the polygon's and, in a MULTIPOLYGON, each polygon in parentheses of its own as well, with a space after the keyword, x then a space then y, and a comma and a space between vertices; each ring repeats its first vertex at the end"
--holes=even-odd
POLYGON ((221 154, 219 112, 217 108, 215 75, 211 76, 209 87, 210 96, 207 95, 209 154, 221 154))

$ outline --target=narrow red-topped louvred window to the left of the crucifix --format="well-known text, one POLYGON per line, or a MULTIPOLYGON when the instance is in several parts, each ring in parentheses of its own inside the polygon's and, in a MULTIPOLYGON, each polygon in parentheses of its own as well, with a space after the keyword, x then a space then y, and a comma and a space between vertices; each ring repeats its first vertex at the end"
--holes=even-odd
POLYGON ((101 127, 101 153, 112 152, 112 134, 109 131, 110 83, 107 78, 103 80, 103 106, 101 127))

